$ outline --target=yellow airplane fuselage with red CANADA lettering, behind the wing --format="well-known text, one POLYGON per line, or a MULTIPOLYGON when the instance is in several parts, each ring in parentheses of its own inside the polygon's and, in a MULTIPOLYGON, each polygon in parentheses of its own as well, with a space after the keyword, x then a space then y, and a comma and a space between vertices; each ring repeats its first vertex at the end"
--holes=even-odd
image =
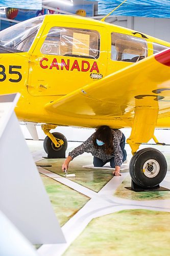
MULTIPOLYGON (((170 47, 168 42, 134 32, 89 18, 46 15, 28 51, 23 49, 30 41, 22 43, 16 52, 7 49, 4 53, 0 49, 0 93, 21 94, 15 111, 23 121, 84 127, 107 123, 117 128, 129 127, 129 121, 117 116, 111 119, 65 118, 62 113, 49 113, 44 106, 153 55, 154 44, 170 47), (132 45, 126 49, 128 40, 132 45)), ((12 44, 19 44, 13 41, 12 44)), ((169 121, 169 117, 159 119, 157 127, 168 127, 169 121)))

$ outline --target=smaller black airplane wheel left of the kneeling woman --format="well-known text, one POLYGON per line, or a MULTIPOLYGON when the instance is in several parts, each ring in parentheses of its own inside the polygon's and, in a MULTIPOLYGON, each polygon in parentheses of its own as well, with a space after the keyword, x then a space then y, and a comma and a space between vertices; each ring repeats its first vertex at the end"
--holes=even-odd
POLYGON ((56 147, 55 144, 52 142, 52 140, 46 136, 45 139, 44 139, 44 151, 46 152, 46 154, 48 154, 49 151, 60 151, 63 147, 64 147, 64 150, 66 151, 67 149, 67 139, 65 138, 65 136, 61 133, 52 133, 53 136, 57 139, 62 139, 64 141, 64 144, 61 145, 60 147, 56 147))

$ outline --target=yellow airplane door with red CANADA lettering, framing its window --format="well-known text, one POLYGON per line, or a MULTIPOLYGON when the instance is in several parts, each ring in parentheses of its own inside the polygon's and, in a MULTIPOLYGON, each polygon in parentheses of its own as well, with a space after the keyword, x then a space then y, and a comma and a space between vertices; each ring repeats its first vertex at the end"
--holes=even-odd
MULTIPOLYGON (((89 20, 87 19, 87 24, 89 20)), ((74 33, 76 40, 77 35, 74 33)), ((80 35, 80 34, 79 34, 80 35)), ((30 74, 29 74, 29 93, 33 96, 47 96, 47 95, 66 95, 75 91, 82 86, 91 83, 96 79, 90 74, 100 73, 101 76, 106 75, 107 69, 107 53, 108 41, 101 40, 106 38, 107 30, 103 26, 92 26, 86 24, 53 22, 47 23, 42 32, 33 54, 31 55, 30 74), (53 27, 61 28, 87 28, 96 31, 100 35, 100 56, 99 58, 83 58, 74 56, 62 56, 55 54, 41 53, 41 47, 46 38, 48 31, 53 27), (105 63, 105 65, 104 65, 105 63)), ((81 40, 88 41, 88 37, 84 34, 81 40)), ((78 38, 77 38, 78 39, 78 38)), ((76 49, 73 48, 73 51, 76 49)), ((84 52, 87 54, 87 51, 84 52)), ((74 52, 72 53, 74 54, 74 52)))

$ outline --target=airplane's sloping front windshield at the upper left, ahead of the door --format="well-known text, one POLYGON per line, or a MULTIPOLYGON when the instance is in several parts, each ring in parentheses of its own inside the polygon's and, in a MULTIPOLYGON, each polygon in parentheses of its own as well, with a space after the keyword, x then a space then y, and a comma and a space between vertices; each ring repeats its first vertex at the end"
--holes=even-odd
POLYGON ((38 16, 0 31, 0 46, 28 52, 43 18, 44 16, 38 16))

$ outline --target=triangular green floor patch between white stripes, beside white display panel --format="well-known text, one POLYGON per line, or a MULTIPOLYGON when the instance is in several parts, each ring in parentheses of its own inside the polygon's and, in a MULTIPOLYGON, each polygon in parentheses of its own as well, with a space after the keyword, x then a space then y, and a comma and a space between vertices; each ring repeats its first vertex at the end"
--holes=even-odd
POLYGON ((42 174, 40 176, 60 226, 62 226, 88 202, 89 198, 58 181, 42 174))

